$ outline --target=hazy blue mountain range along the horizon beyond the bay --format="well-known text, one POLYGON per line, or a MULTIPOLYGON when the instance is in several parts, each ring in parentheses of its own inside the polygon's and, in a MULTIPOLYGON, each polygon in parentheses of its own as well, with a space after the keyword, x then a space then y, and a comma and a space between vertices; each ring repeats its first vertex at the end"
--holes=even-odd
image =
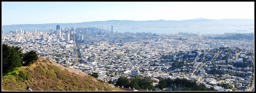
POLYGON ((52 25, 60 25, 65 27, 96 27, 106 28, 111 26, 120 28, 188 28, 188 27, 209 27, 209 26, 254 26, 254 19, 220 19, 211 20, 202 17, 191 20, 106 20, 92 21, 82 23, 45 23, 45 24, 18 24, 18 25, 3 25, 3 29, 33 29, 33 28, 49 28, 52 25))

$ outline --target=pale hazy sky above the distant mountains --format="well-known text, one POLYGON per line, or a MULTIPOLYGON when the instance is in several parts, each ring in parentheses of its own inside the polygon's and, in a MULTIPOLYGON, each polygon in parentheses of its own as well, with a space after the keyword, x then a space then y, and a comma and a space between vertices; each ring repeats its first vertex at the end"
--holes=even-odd
POLYGON ((198 17, 254 19, 254 2, 2 2, 2 25, 198 17))

